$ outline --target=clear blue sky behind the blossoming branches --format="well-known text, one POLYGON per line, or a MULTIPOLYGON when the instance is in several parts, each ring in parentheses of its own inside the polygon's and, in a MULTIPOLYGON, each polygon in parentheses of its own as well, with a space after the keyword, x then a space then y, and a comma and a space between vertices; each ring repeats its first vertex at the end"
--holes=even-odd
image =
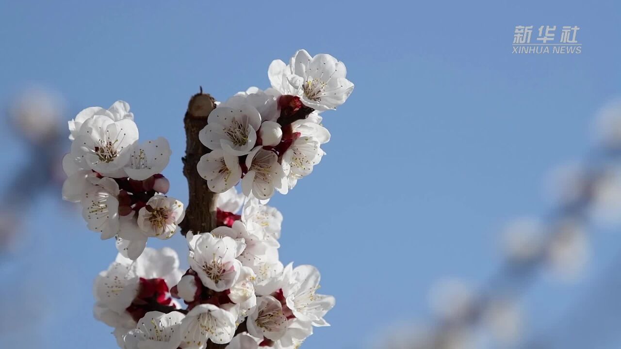
MULTIPOLYGON (((328 155, 271 203, 284 215, 281 259, 318 266, 337 297, 332 327, 305 347, 361 348, 389 324, 427 319, 436 279, 486 279, 499 228, 548 209, 546 175, 587 152, 597 109, 621 96, 620 17, 614 1, 2 2, 0 99, 46 86, 65 96, 66 119, 128 101, 142 139, 170 140, 165 175, 183 200, 182 118, 199 85, 217 99, 266 88, 271 60, 298 48, 344 61, 356 87, 324 114, 328 155), (578 25, 582 53, 512 55, 515 25, 578 25)), ((23 163, 18 140, 0 134, 2 164, 23 163)), ((2 288, 42 320, 0 330, 0 342, 113 348, 92 318, 91 284, 116 252, 58 197, 25 212, 20 249, 0 265, 2 288)), ((529 330, 555 328, 601 278, 621 248, 615 233, 592 240, 584 280, 544 277, 528 292, 529 330)), ((168 243, 186 252, 181 237, 168 243)))

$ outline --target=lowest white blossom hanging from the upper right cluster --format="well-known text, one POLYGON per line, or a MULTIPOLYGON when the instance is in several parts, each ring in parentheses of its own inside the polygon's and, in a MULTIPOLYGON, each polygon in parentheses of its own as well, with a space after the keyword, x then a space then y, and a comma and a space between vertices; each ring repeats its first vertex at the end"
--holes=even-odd
POLYGON ((252 193, 258 199, 268 199, 274 195, 274 189, 282 188, 285 175, 276 153, 256 147, 248 154, 246 166, 248 173, 242 179, 246 196, 252 193))

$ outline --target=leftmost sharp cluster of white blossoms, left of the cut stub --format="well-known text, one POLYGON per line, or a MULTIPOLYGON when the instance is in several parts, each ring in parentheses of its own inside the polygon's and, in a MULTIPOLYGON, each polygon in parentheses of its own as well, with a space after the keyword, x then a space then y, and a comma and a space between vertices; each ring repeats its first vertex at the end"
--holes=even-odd
POLYGON ((71 152, 63 158, 67 175, 63 199, 80 202, 88 228, 135 260, 148 237, 170 238, 183 219, 183 204, 167 197, 161 171, 171 150, 165 138, 138 143, 129 104, 89 107, 69 122, 71 152))

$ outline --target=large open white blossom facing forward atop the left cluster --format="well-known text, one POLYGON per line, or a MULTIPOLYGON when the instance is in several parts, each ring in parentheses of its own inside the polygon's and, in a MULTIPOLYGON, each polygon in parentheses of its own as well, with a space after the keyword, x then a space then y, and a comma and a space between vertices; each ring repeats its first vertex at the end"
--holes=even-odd
POLYGON ((96 115, 81 125, 78 136, 71 143, 71 155, 104 176, 124 177, 123 168, 130 160, 132 145, 137 140, 138 127, 133 120, 114 121, 96 115))

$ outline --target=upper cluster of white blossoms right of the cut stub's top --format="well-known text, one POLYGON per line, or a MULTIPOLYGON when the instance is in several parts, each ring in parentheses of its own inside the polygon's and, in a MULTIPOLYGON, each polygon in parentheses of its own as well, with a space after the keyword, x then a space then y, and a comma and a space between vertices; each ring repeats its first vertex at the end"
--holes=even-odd
POLYGON ((289 65, 271 63, 271 88, 250 88, 220 103, 199 134, 212 150, 197 165, 209 189, 223 193, 241 181, 246 196, 286 194, 324 155, 320 146, 330 133, 319 114, 351 94, 346 74, 336 58, 299 50, 289 65))

